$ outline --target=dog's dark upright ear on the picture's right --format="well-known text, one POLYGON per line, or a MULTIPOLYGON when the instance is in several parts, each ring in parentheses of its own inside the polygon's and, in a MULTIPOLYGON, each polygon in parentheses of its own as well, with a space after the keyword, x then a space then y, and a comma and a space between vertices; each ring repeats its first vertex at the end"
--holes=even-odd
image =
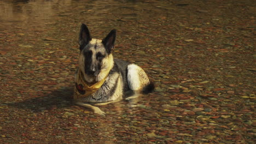
POLYGON ((107 37, 102 40, 102 44, 105 46, 108 53, 110 53, 111 49, 114 48, 116 33, 117 31, 113 29, 111 32, 109 32, 107 37))

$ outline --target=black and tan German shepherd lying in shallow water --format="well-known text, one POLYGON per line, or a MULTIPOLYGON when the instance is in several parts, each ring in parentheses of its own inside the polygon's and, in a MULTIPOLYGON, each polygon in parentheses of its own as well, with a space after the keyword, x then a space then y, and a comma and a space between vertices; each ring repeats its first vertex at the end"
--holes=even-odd
POLYGON ((115 36, 113 29, 103 40, 92 39, 88 27, 84 23, 80 27, 74 103, 100 115, 104 112, 98 105, 120 101, 125 92, 133 92, 131 97, 137 97, 135 92, 147 94, 154 89, 154 83, 141 67, 113 58, 115 36))

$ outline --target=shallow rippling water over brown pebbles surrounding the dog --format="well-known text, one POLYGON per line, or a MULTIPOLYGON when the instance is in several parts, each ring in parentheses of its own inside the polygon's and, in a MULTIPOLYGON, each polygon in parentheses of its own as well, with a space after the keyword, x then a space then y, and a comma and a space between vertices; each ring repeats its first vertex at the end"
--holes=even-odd
POLYGON ((253 143, 251 1, 0 1, 0 143, 253 143), (155 92, 71 103, 86 23, 155 92), (133 101, 134 102, 134 101, 133 101))

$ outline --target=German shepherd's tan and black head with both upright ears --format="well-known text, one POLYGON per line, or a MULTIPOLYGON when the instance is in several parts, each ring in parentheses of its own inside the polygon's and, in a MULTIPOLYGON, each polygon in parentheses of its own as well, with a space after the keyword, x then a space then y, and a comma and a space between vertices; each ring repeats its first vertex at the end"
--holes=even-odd
POLYGON ((113 29, 103 40, 92 39, 89 29, 82 23, 79 34, 79 69, 89 83, 101 81, 113 68, 111 49, 114 47, 116 31, 113 29))

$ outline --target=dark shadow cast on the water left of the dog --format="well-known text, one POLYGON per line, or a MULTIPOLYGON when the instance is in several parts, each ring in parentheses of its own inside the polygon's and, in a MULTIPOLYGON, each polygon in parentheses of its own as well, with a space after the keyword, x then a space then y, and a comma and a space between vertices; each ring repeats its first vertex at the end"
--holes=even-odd
POLYGON ((31 98, 15 103, 8 103, 9 106, 19 109, 29 109, 33 112, 42 112, 62 107, 72 106, 73 87, 64 87, 51 92, 47 96, 31 98))

